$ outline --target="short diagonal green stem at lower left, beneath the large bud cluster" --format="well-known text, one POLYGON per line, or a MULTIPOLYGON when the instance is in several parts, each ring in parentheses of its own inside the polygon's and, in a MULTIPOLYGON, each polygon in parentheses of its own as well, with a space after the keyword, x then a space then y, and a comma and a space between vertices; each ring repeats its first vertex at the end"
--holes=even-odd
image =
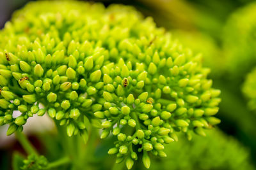
POLYGON ((26 138, 24 133, 17 131, 15 134, 16 134, 17 140, 19 141, 20 145, 22 145, 26 153, 28 153, 29 155, 34 154, 38 156, 38 153, 36 152, 35 147, 29 142, 28 138, 26 138))

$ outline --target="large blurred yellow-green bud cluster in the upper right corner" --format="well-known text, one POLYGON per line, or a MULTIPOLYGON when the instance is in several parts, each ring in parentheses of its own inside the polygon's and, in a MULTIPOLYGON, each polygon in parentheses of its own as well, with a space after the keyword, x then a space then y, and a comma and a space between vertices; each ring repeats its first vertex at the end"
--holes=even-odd
POLYGON ((223 32, 227 69, 235 78, 243 78, 256 64, 256 3, 235 11, 223 32))

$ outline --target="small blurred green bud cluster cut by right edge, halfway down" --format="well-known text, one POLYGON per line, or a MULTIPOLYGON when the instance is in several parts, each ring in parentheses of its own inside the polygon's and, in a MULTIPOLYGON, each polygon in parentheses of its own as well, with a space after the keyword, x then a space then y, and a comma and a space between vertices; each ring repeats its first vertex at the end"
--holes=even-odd
POLYGON ((243 93, 249 99, 248 106, 251 110, 256 110, 256 68, 248 73, 243 85, 243 93))

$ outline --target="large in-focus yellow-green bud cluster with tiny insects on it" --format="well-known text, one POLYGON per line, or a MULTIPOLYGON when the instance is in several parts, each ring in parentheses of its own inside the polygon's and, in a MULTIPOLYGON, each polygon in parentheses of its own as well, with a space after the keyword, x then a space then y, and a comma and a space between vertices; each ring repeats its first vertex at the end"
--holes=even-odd
POLYGON ((92 124, 103 128, 100 138, 116 136, 108 153, 131 169, 138 152, 148 168, 148 153, 166 157, 164 144, 177 132, 191 139, 220 123, 220 90, 201 55, 131 7, 30 3, 0 35, 0 124, 10 124, 8 135, 46 112, 68 136, 87 140, 92 124))

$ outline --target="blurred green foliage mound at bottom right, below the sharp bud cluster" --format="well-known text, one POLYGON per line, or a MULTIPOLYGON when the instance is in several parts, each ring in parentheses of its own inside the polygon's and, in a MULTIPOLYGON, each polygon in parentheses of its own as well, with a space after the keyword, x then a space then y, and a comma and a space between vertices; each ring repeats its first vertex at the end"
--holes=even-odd
POLYGON ((171 159, 154 160, 152 169, 254 169, 249 150, 218 129, 207 132, 204 140, 195 136, 191 141, 173 143, 166 153, 171 159))

